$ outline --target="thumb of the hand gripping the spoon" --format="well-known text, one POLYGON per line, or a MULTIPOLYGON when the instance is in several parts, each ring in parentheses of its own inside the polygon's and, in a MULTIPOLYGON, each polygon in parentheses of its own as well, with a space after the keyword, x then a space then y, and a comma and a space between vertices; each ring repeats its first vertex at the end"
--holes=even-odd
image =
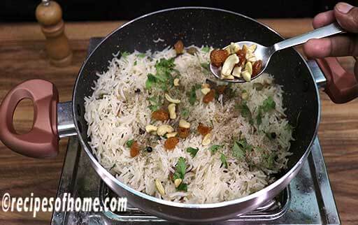
POLYGON ((334 15, 338 24, 348 32, 358 33, 358 8, 340 2, 334 6, 334 15))

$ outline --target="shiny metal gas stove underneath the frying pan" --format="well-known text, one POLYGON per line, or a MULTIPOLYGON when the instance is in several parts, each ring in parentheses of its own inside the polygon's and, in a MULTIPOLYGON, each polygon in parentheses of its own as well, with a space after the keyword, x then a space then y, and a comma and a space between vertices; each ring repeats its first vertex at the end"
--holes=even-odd
MULTIPOLYGON (((101 41, 91 38, 89 52, 101 41)), ((57 197, 116 196, 92 168, 76 137, 69 138, 57 197)), ((54 212, 52 224, 174 224, 127 203, 126 212, 54 212)), ((299 173, 271 201, 246 215, 215 224, 341 224, 318 138, 299 173)))

